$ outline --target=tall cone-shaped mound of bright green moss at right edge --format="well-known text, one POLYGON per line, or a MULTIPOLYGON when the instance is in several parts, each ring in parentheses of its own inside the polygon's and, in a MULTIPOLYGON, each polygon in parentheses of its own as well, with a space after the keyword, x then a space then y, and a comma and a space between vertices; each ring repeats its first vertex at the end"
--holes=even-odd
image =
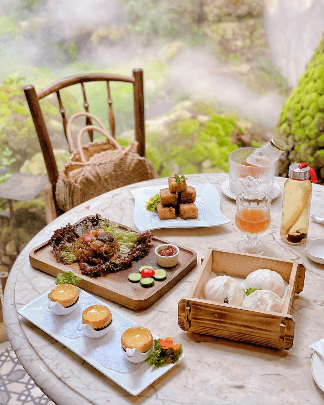
POLYGON ((296 87, 283 105, 278 132, 288 144, 280 174, 291 163, 306 162, 324 182, 324 35, 296 87))

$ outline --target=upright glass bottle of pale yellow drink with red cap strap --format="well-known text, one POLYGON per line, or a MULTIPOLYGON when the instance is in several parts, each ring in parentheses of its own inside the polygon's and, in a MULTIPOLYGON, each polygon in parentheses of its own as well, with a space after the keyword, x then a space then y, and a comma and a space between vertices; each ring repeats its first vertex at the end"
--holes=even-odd
POLYGON ((316 182, 317 177, 313 168, 304 162, 291 164, 288 176, 283 186, 280 236, 287 243, 300 245, 307 238, 313 189, 311 181, 316 182))

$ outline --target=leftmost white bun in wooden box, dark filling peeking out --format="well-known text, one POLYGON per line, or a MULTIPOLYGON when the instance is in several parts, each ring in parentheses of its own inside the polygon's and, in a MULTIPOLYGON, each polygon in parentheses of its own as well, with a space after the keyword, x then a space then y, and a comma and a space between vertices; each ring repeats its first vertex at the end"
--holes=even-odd
POLYGON ((244 288, 229 276, 217 276, 205 285, 205 298, 231 305, 242 305, 245 298, 244 288))

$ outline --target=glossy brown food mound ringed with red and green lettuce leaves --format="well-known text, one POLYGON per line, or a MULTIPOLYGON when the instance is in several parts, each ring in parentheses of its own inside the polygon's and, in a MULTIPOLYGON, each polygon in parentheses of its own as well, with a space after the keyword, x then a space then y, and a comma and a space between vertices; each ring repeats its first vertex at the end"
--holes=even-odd
POLYGON ((54 231, 49 245, 59 262, 78 262, 83 275, 101 277, 123 271, 133 260, 149 252, 151 232, 121 230, 99 214, 90 215, 74 226, 68 224, 54 231))

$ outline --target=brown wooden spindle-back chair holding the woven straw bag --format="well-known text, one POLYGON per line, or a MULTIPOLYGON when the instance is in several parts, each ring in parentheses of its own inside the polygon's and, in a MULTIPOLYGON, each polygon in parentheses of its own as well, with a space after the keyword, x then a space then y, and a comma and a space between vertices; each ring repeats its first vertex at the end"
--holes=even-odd
MULTIPOLYGON (((65 87, 80 83, 83 94, 83 107, 86 112, 89 112, 89 104, 85 94, 85 82, 90 81, 106 81, 107 83, 107 103, 108 103, 108 118, 111 134, 115 137, 115 117, 113 113, 111 92, 109 83, 111 81, 128 82, 133 84, 134 92, 134 122, 135 122, 135 139, 139 143, 138 153, 140 156, 145 156, 145 119, 144 119, 144 91, 143 91, 143 70, 136 68, 132 71, 132 76, 110 75, 106 73, 89 73, 84 75, 74 75, 65 77, 50 84, 42 90, 36 92, 33 85, 24 87, 24 92, 29 105, 30 113, 34 121, 36 132, 38 135, 40 147, 43 152, 47 174, 50 184, 45 187, 45 209, 47 223, 51 222, 58 215, 62 214, 62 210, 58 207, 55 199, 55 187, 58 181, 58 167, 55 162, 53 148, 49 139, 49 134, 45 124, 39 100, 56 93, 58 97, 59 111, 62 115, 63 130, 66 137, 66 110, 62 104, 60 90, 65 87)), ((92 125, 91 119, 86 118, 86 125, 92 125)), ((93 141, 93 131, 88 131, 90 140, 93 141)))

